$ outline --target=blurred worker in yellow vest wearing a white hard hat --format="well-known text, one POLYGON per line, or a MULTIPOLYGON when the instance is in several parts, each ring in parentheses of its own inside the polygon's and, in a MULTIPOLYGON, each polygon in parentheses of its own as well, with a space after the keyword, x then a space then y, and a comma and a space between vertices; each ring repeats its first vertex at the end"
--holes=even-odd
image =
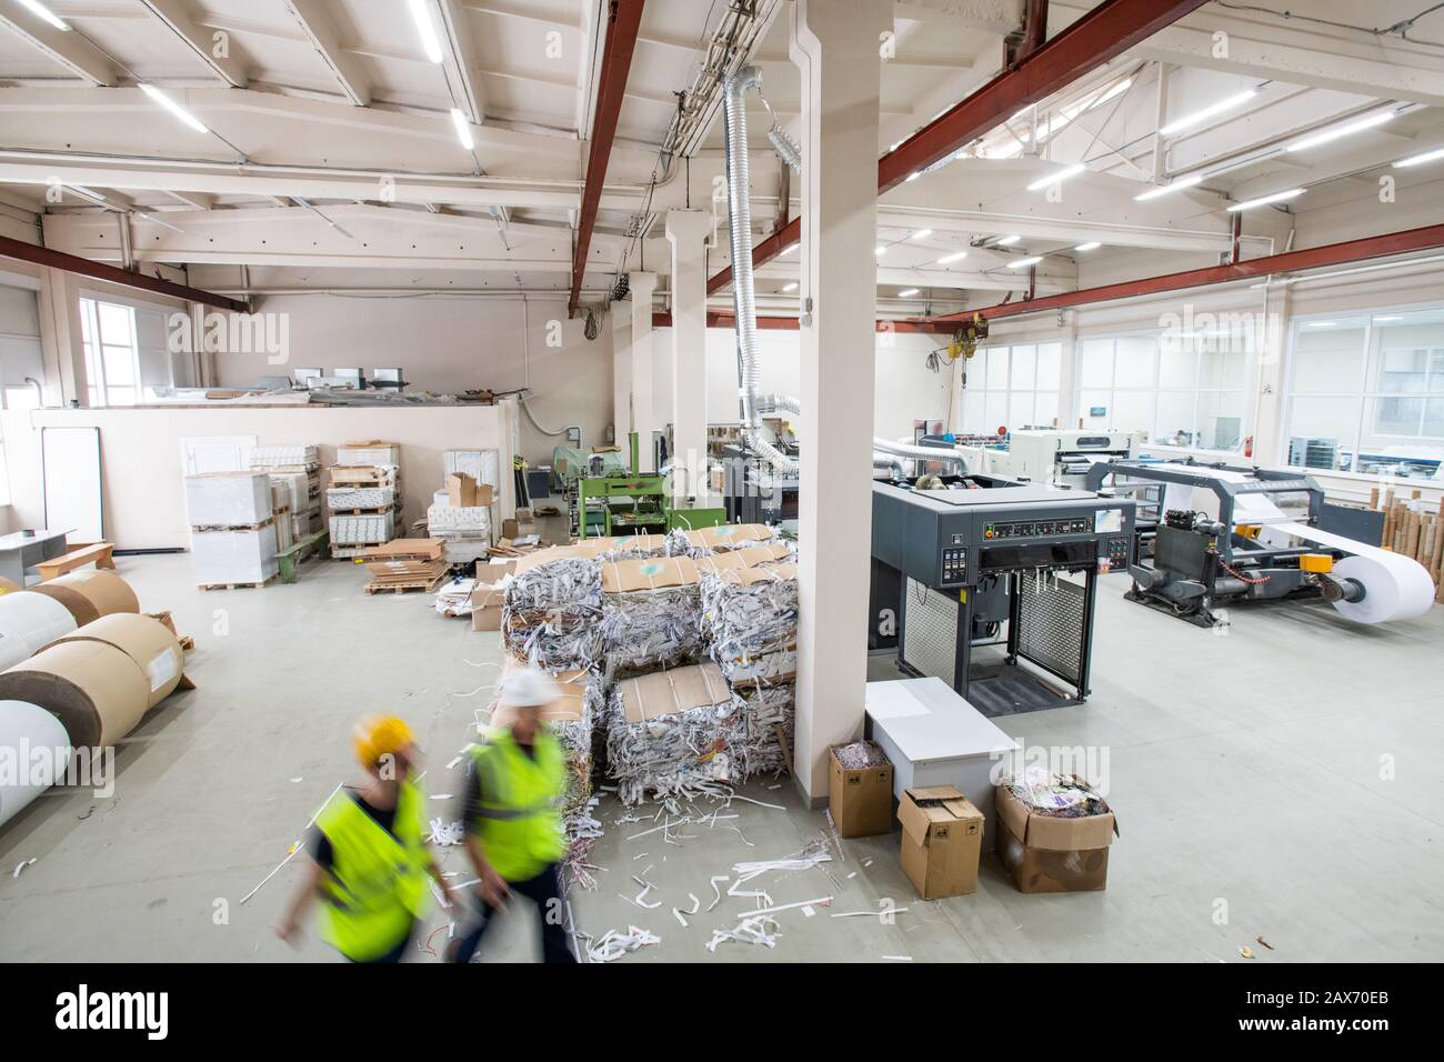
POLYGON ((566 757, 542 720, 560 689, 531 668, 503 679, 498 725, 472 751, 462 800, 466 852, 477 870, 478 923, 458 933, 448 952, 469 962, 497 912, 520 893, 537 907, 544 962, 576 962, 567 942, 560 860, 566 854, 562 798, 566 757))

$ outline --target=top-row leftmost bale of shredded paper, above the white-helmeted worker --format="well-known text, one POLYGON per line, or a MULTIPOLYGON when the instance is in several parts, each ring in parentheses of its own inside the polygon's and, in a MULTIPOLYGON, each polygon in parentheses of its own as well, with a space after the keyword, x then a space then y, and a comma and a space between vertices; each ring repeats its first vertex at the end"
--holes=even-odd
POLYGON ((601 659, 602 574, 588 551, 529 553, 504 581, 501 637, 513 656, 547 670, 601 659))

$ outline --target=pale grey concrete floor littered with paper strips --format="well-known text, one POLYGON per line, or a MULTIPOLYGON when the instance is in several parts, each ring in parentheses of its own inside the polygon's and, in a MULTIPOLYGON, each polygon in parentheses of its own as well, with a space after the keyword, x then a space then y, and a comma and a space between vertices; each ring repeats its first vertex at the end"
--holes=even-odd
MULTIPOLYGON (((241 897, 352 776, 348 733, 364 712, 407 718, 430 754, 429 792, 458 790, 445 764, 495 681, 498 637, 440 618, 429 597, 365 597, 365 574, 342 562, 310 564, 296 585, 209 594, 183 555, 123 558, 120 574, 195 636, 198 689, 120 748, 114 798, 46 796, 0 828, 0 959, 334 961, 313 933, 293 951, 270 931, 300 857, 241 897)), ((778 905, 833 896, 832 907, 781 913, 774 949, 710 954, 712 929, 752 902, 725 899, 689 928, 671 907, 692 893, 706 909, 712 876, 796 852, 826 826, 791 783, 767 780, 742 792, 786 809, 735 803, 739 818, 680 844, 628 839, 651 824, 615 825, 625 812, 608 798, 601 884, 572 897, 579 926, 661 938, 624 962, 1232 962, 1245 945, 1258 962, 1444 958, 1444 608, 1388 629, 1318 604, 1233 610, 1213 634, 1123 601, 1125 588, 1112 577, 1100 592, 1089 704, 1002 721, 1030 744, 1106 753, 1122 834, 1106 892, 1022 896, 988 855, 976 894, 924 903, 897 865, 897 834, 843 841, 826 873, 761 881, 778 905), (643 870, 657 909, 630 899, 643 870), (830 918, 882 897, 907 907, 894 925, 830 918)), ((872 672, 892 676, 887 660, 872 672)), ((453 802, 435 803, 449 819, 453 802)), ((471 877, 459 848, 445 852, 471 877)), ((487 958, 536 952, 513 913, 487 958)))

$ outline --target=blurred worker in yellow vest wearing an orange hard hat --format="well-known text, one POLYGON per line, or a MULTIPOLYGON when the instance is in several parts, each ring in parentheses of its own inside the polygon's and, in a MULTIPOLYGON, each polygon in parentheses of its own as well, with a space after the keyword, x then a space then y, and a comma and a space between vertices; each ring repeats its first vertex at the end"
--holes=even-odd
POLYGON ((316 815, 308 838, 310 868, 276 926, 293 941, 312 900, 321 899, 321 932, 352 962, 400 962, 426 913, 427 877, 451 887, 426 848, 420 756, 412 728, 394 715, 362 720, 354 733, 364 786, 342 786, 316 815))

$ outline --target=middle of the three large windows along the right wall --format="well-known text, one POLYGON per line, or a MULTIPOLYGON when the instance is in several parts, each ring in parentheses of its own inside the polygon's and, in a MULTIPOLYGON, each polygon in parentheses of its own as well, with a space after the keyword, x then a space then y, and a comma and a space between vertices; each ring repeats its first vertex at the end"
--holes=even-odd
POLYGON ((1079 415, 1171 446, 1239 449, 1251 328, 1148 332, 1079 344, 1079 415))

